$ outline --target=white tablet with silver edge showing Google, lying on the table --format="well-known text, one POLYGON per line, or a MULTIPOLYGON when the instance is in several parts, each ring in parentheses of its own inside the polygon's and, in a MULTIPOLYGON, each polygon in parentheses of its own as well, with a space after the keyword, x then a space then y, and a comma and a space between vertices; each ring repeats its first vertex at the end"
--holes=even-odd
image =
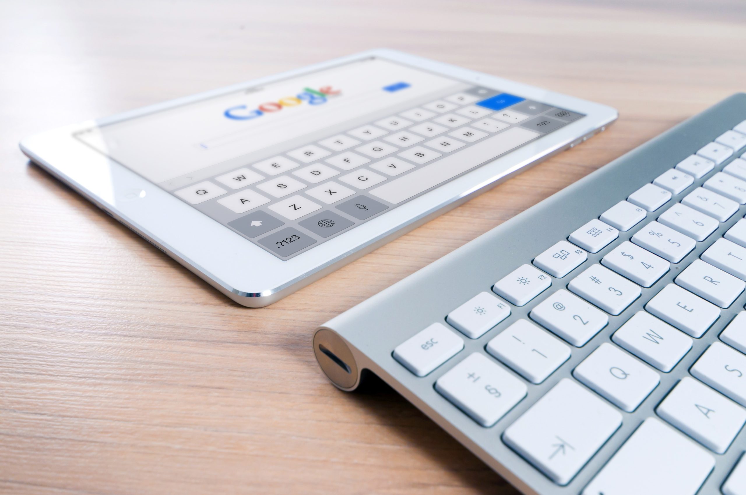
POLYGON ((21 149, 258 307, 616 116, 381 49, 40 133, 21 149))

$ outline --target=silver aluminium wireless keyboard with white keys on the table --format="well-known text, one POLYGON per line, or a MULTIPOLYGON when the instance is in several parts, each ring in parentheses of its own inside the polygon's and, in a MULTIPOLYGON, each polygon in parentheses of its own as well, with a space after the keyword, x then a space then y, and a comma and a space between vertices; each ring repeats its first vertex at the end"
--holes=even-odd
POLYGON ((746 93, 316 331, 524 494, 746 494, 746 93))

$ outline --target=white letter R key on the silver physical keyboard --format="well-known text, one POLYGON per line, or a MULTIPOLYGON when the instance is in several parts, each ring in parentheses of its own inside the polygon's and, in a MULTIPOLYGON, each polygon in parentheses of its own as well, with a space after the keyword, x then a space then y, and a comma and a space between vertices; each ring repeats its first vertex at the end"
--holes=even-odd
POLYGON ((720 268, 695 259, 674 282, 700 297, 727 308, 746 288, 746 282, 727 274, 720 268))

